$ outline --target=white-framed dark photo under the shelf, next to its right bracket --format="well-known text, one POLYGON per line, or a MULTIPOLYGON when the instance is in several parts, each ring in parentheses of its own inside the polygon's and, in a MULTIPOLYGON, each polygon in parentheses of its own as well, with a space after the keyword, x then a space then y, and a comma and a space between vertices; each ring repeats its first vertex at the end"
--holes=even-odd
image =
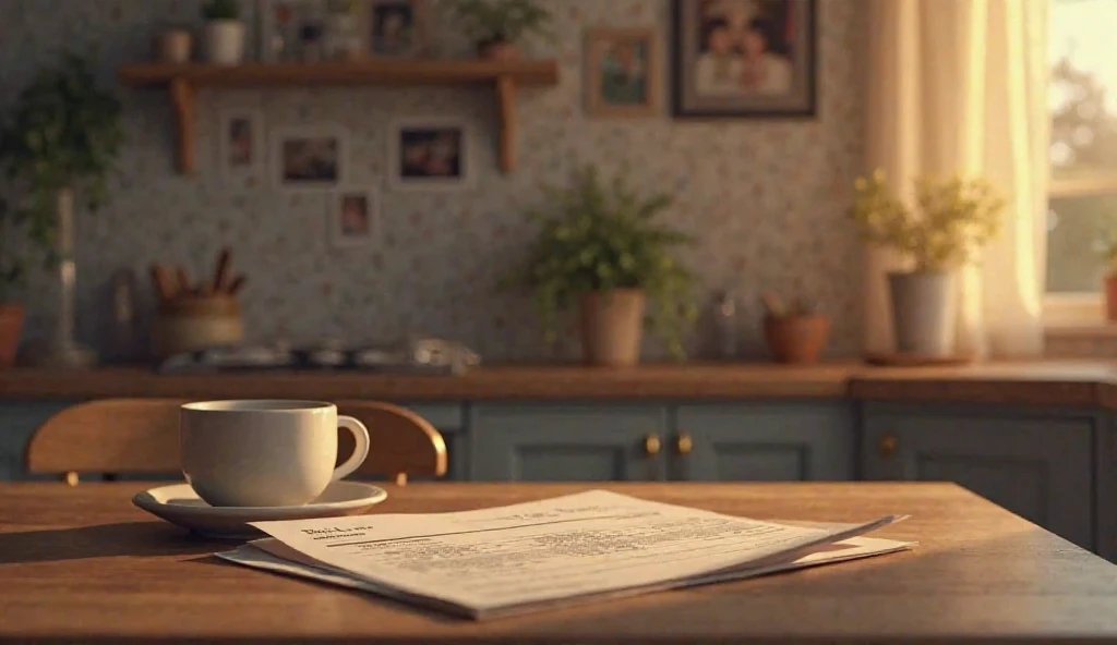
POLYGON ((472 128, 455 118, 409 118, 388 131, 389 183, 397 190, 460 190, 474 184, 472 128))

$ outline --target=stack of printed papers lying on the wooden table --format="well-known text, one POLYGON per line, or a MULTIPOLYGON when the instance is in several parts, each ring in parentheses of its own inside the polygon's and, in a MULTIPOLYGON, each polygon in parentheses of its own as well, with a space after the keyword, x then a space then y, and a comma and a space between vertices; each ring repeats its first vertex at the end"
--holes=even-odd
POLYGON ((904 518, 818 528, 609 491, 476 511, 254 522, 218 553, 476 619, 735 580, 911 547, 860 537, 904 518))

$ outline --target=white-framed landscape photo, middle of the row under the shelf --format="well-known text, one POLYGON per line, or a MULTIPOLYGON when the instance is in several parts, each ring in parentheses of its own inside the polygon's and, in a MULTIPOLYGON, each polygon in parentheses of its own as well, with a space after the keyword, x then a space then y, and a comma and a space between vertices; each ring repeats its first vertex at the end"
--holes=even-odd
POLYGON ((273 176, 283 189, 335 189, 345 179, 345 132, 340 127, 279 129, 271 139, 273 176))

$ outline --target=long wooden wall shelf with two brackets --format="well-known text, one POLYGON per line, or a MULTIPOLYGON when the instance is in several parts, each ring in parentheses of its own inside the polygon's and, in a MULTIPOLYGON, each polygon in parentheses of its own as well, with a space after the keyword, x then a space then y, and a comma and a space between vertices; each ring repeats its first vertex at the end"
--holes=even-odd
POLYGON ((194 97, 198 88, 491 85, 499 110, 500 169, 512 172, 516 165, 516 89, 556 85, 558 64, 554 60, 361 60, 248 62, 227 67, 141 62, 121 67, 117 76, 121 83, 134 87, 168 88, 179 125, 178 167, 184 174, 193 174, 195 170, 194 97))

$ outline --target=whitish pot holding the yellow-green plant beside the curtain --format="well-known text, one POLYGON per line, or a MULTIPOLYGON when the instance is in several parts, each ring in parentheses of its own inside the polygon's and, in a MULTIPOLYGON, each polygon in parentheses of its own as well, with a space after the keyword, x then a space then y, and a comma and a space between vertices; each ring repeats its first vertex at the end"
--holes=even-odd
POLYGON ((897 352, 923 356, 954 353, 954 273, 947 272, 888 275, 897 352))

